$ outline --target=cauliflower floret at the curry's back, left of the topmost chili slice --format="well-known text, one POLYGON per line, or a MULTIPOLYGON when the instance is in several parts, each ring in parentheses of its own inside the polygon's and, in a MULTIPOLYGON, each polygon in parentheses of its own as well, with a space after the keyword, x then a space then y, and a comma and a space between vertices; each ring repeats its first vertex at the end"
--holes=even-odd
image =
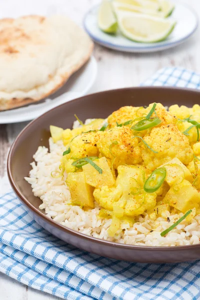
POLYGON ((143 107, 123 106, 118 110, 112 112, 107 118, 110 127, 115 127, 118 124, 124 123, 128 120, 133 120, 140 117, 145 112, 143 107))

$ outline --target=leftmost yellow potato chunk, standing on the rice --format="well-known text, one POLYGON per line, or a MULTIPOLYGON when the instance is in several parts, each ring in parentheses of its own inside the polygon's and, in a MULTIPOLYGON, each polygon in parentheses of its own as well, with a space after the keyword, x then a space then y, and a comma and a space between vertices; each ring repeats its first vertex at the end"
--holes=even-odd
POLYGON ((93 208, 93 188, 86 183, 83 172, 68 173, 66 183, 73 204, 93 208))

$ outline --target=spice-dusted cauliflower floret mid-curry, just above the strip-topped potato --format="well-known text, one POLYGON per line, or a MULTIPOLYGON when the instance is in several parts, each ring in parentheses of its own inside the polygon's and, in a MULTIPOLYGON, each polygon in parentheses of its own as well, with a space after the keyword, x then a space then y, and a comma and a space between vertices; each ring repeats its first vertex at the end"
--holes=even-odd
POLYGON ((129 127, 114 127, 96 133, 96 144, 99 152, 113 160, 116 168, 120 164, 134 164, 141 162, 141 151, 138 138, 132 138, 129 127))

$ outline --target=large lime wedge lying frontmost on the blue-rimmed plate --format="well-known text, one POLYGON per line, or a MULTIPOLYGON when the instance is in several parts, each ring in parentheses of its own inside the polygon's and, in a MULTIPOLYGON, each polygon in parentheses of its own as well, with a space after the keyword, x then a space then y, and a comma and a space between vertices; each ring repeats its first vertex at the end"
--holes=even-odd
POLYGON ((129 11, 115 10, 121 33, 137 42, 157 42, 173 30, 175 21, 129 11))

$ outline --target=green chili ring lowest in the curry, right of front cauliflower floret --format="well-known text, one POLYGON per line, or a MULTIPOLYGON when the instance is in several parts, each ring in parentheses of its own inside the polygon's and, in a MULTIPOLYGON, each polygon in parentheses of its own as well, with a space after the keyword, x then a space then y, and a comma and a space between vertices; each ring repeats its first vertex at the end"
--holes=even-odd
POLYGON ((145 181, 143 189, 147 193, 152 193, 156 191, 164 182, 166 177, 166 169, 165 167, 159 167, 155 169, 148 179, 145 181))

